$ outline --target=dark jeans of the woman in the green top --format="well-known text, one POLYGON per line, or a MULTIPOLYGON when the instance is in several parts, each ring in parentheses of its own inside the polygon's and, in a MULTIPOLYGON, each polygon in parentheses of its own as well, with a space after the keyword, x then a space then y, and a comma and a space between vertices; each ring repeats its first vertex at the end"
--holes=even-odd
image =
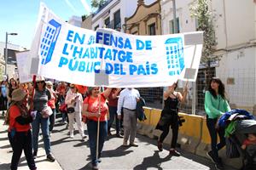
POLYGON ((217 123, 218 119, 210 119, 207 118, 207 127, 208 127, 208 131, 210 133, 211 136, 211 146, 212 146, 212 153, 213 153, 213 160, 218 162, 218 150, 222 149, 225 145, 226 145, 226 141, 224 138, 224 129, 223 128, 219 128, 218 130, 215 128, 216 123, 217 123), (217 144, 217 133, 218 133, 218 137, 220 142, 217 144))

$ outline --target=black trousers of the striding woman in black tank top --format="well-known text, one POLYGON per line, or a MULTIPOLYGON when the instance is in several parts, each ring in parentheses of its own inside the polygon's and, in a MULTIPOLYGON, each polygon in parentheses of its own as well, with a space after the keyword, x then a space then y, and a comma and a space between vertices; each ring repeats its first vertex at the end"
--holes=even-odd
POLYGON ((177 145, 177 135, 178 135, 178 122, 177 122, 177 115, 172 116, 172 122, 167 123, 163 126, 163 133, 160 135, 159 141, 162 143, 166 136, 169 133, 170 126, 172 127, 172 144, 171 148, 176 148, 177 145))

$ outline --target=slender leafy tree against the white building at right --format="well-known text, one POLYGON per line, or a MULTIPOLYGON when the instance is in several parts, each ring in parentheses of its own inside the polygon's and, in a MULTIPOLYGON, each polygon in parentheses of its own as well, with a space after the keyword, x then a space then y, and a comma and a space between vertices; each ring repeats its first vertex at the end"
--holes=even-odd
POLYGON ((212 61, 218 59, 214 56, 217 45, 215 31, 212 24, 212 12, 209 9, 211 0, 194 0, 189 10, 191 17, 198 20, 198 31, 204 31, 204 44, 202 49, 201 64, 210 66, 212 61))

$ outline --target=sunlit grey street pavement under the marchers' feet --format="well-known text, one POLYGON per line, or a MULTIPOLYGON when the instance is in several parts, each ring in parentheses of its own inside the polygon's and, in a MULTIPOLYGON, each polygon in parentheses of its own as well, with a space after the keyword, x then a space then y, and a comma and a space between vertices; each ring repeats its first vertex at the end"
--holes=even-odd
MULTIPOLYGON (((36 164, 38 169, 64 169, 64 170, 86 170, 91 169, 90 149, 88 138, 81 140, 78 128, 74 138, 68 136, 67 125, 60 123, 60 118, 51 134, 51 150, 55 156, 55 162, 46 161, 43 140, 40 140, 38 158, 36 164)), ((0 169, 9 169, 12 153, 9 153, 10 145, 7 138, 6 127, 3 127, 3 119, 0 120, 0 169)), ((85 134, 87 135, 86 126, 85 134)), ((201 156, 195 156, 184 150, 179 150, 182 156, 169 156, 168 145, 164 145, 162 152, 158 151, 155 139, 137 134, 136 143, 138 147, 122 146, 123 139, 113 135, 106 140, 102 152, 100 169, 215 169, 212 161, 201 156)), ((28 169, 24 155, 21 156, 19 169, 28 169)), ((225 169, 234 169, 226 167, 225 169)))

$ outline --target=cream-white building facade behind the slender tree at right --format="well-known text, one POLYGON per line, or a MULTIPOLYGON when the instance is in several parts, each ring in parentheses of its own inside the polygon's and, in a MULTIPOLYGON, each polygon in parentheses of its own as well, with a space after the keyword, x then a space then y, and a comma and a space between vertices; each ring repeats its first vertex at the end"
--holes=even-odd
MULTIPOLYGON (((197 20, 190 17, 192 0, 176 1, 177 32, 196 31, 197 20)), ((161 0, 162 33, 173 32, 172 0, 161 0)), ((207 74, 220 77, 233 108, 256 114, 256 27, 255 3, 249 1, 212 0, 216 55, 220 60, 211 68, 201 66, 197 77, 197 105, 203 110, 207 74), (234 10, 239 8, 239 13, 234 10), (210 71, 210 72, 209 72, 210 71)))

